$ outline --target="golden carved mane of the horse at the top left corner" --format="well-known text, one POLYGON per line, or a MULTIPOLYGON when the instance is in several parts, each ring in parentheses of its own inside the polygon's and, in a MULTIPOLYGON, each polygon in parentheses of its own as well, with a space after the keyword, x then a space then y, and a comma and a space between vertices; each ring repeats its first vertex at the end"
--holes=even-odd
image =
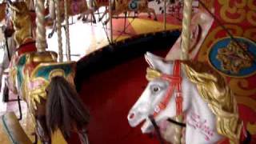
POLYGON ((17 47, 22 45, 28 39, 32 38, 32 22, 30 18, 30 10, 26 6, 26 2, 13 2, 10 6, 11 21, 14 25, 14 40, 17 47))

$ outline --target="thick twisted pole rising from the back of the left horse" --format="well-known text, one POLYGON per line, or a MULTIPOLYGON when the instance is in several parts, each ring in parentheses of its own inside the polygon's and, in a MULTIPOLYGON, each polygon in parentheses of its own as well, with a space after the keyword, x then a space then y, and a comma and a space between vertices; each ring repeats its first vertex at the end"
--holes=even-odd
POLYGON ((45 23, 45 16, 44 16, 44 0, 36 1, 36 47, 38 52, 46 51, 46 28, 44 26, 45 23))

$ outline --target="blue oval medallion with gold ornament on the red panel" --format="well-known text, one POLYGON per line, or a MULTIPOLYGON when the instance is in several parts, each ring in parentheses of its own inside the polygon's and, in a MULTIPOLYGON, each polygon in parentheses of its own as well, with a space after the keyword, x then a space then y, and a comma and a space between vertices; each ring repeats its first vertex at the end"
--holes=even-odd
POLYGON ((211 46, 210 65, 230 77, 248 77, 256 72, 256 44, 247 38, 222 38, 211 46))

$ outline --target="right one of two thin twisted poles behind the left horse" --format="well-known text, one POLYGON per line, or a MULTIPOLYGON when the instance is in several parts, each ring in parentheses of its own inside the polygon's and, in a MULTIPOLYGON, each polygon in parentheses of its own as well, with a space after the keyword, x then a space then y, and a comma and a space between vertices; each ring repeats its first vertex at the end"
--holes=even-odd
POLYGON ((64 0, 65 7, 65 23, 66 23, 66 59, 67 61, 71 61, 70 58, 70 27, 69 27, 69 16, 67 14, 67 0, 64 0))

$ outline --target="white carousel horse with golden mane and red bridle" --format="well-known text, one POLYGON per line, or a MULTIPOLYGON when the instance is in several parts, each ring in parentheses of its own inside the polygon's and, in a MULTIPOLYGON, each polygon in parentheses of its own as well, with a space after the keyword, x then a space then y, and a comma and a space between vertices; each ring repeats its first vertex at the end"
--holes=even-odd
MULTIPOLYGON (((200 62, 165 61, 146 54, 150 81, 127 116, 130 126, 142 133, 165 131, 169 122, 186 126, 186 143, 216 143, 223 138, 242 143, 250 140, 238 116, 238 105, 224 78, 200 62), (182 114, 184 122, 173 120, 182 114), (154 122, 151 123, 151 119, 154 122), (167 121, 168 120, 168 121, 167 121)), ((183 134, 184 135, 184 134, 183 134)))

